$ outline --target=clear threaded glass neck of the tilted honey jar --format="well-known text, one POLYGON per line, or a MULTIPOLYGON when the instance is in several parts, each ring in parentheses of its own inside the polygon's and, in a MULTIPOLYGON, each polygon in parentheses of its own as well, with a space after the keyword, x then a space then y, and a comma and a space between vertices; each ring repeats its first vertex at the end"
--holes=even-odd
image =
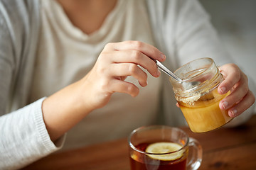
POLYGON ((223 76, 220 74, 218 67, 210 58, 194 60, 183 65, 174 72, 183 81, 170 79, 173 85, 174 94, 177 98, 187 98, 191 96, 203 96, 215 89, 223 76), (184 84, 189 84, 184 86, 184 84))

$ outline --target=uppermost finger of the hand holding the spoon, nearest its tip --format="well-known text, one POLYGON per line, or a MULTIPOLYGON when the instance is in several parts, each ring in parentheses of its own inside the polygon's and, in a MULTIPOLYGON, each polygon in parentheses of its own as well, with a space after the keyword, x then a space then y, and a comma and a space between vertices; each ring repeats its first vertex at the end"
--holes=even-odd
POLYGON ((166 59, 166 56, 158 50, 156 47, 153 45, 146 44, 144 42, 140 41, 124 41, 124 42, 116 42, 116 43, 109 43, 105 46, 105 49, 107 50, 137 50, 144 55, 154 59, 154 60, 159 60, 160 62, 164 62, 166 59))

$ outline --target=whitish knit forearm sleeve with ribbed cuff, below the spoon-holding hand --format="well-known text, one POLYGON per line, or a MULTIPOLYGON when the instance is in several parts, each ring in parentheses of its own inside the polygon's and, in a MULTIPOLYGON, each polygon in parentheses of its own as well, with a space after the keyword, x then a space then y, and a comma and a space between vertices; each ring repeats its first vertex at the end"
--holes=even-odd
POLYGON ((65 135, 53 143, 46 130, 43 99, 0 117, 0 169, 19 169, 62 147, 65 135))

